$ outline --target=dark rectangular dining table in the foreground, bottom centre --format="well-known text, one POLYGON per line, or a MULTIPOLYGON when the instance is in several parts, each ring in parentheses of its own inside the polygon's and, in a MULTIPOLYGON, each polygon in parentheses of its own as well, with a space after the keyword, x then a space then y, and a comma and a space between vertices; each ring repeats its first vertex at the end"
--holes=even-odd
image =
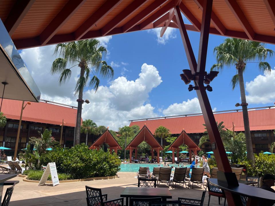
POLYGON ((161 197, 162 201, 171 199, 172 195, 168 188, 158 187, 126 187, 120 194, 120 197, 126 197, 126 206, 129 205, 128 198, 153 198, 161 197))

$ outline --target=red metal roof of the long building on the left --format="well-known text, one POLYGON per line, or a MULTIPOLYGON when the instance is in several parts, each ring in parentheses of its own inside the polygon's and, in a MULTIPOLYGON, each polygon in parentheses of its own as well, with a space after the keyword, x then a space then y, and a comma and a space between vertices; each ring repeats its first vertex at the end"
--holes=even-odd
MULTIPOLYGON (((8 119, 19 120, 21 107, 22 101, 3 99, 1 111, 8 119)), ((44 102, 31 102, 31 104, 27 105, 23 110, 22 120, 60 125, 62 124, 62 119, 64 119, 64 126, 75 127, 76 112, 76 109, 65 106, 44 102)))

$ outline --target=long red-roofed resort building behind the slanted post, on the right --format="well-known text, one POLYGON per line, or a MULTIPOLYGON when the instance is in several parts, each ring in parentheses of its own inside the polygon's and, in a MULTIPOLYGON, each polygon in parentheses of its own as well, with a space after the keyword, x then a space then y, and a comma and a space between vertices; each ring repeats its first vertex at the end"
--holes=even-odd
MULTIPOLYGON (((253 152, 269 151, 270 144, 275 142, 274 129, 275 129, 275 109, 274 106, 253 108, 248 111, 250 131, 253 152)), ((224 122, 223 125, 226 129, 235 132, 244 132, 243 114, 240 110, 227 110, 221 112, 214 112, 216 122, 224 122)), ((146 124, 146 127, 154 134, 156 128, 164 126, 168 128, 173 136, 178 136, 182 130, 199 144, 201 136, 205 135, 205 124, 202 114, 186 114, 170 117, 147 118, 140 120, 129 120, 130 126, 138 125, 140 128, 146 124)), ((164 146, 167 144, 164 141, 164 146)), ((201 146, 205 152, 212 151, 210 143, 204 143, 201 146)))

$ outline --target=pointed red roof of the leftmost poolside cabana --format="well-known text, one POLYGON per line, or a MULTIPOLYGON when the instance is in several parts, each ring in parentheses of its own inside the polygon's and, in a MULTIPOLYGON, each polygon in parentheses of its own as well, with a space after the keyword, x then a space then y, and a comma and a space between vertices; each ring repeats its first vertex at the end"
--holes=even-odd
POLYGON ((89 149, 96 149, 104 142, 109 144, 110 147, 118 147, 118 149, 121 149, 121 146, 118 144, 117 140, 113 137, 108 129, 99 138, 97 138, 97 140, 95 140, 89 149))

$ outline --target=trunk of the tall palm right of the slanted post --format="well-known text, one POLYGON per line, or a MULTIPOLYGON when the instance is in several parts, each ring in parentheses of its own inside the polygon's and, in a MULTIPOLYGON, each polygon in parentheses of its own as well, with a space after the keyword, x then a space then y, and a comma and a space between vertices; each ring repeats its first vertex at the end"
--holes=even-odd
POLYGON ((239 75, 239 86, 240 86, 240 92, 241 92, 241 104, 243 109, 243 125, 244 125, 247 159, 250 160, 251 165, 254 166, 254 163, 255 163, 254 154, 253 154, 253 148, 252 148, 249 118, 248 118, 245 89, 244 89, 244 82, 243 82, 243 68, 238 69, 238 75, 239 75))

